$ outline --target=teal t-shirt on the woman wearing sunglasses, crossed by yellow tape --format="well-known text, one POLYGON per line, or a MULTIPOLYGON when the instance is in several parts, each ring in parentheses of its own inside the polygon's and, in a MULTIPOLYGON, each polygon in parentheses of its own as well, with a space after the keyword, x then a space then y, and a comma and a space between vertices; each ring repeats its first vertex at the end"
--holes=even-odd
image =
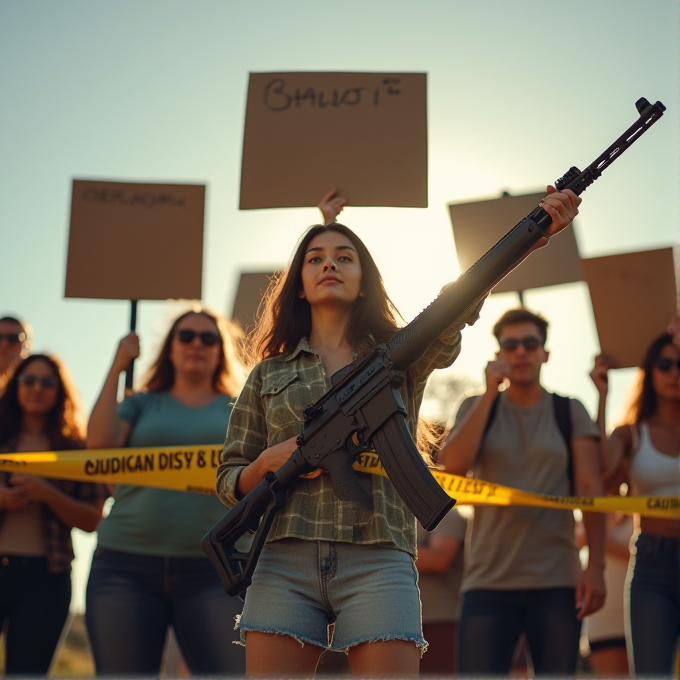
MULTIPOLYGON (((231 397, 220 394, 207 406, 189 408, 168 392, 140 392, 125 399, 118 414, 132 425, 130 447, 219 444, 231 397)), ((99 525, 99 545, 142 555, 204 557, 201 538, 226 510, 216 496, 120 484, 99 525)))

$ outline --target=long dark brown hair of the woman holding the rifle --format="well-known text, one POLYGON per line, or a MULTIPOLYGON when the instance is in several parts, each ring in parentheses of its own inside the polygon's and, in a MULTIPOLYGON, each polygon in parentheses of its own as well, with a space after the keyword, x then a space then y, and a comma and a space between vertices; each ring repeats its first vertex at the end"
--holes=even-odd
POLYGON ((385 290, 378 267, 361 239, 343 224, 315 225, 303 234, 288 269, 274 277, 264 294, 257 323, 248 337, 249 363, 277 355, 290 354, 300 340, 309 337, 312 313, 309 302, 300 297, 302 265, 312 239, 335 232, 345 236, 359 255, 361 286, 364 296, 352 307, 347 326, 347 341, 362 356, 373 345, 389 340, 398 330, 401 315, 385 290))

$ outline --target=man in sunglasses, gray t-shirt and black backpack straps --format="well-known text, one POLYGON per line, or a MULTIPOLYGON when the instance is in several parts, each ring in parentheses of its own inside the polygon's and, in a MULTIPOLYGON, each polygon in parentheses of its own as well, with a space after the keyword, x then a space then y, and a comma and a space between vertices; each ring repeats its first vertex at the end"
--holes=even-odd
MULTIPOLYGON (((599 496, 597 426, 578 400, 541 385, 547 329, 523 308, 498 320, 486 391, 462 402, 439 461, 448 472, 534 493, 599 496)), ((462 585, 461 675, 507 675, 522 633, 536 675, 575 674, 581 620, 605 598, 603 518, 583 517, 589 560, 582 571, 571 512, 475 508, 462 585)))

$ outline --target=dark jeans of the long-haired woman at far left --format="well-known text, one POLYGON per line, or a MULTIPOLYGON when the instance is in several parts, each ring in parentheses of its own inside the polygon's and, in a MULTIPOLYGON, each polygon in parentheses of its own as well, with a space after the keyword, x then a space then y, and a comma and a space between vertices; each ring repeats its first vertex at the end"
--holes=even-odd
POLYGON ((47 675, 71 602, 71 574, 51 574, 44 557, 0 556, 0 632, 7 675, 47 675))

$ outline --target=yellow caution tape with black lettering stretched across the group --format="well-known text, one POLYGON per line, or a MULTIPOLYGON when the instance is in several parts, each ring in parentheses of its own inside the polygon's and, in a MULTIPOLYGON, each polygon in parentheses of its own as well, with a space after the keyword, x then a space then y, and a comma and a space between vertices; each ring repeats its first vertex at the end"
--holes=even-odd
MULTIPOLYGON (((0 455, 0 471, 215 495, 215 472, 221 450, 222 446, 215 444, 6 453, 0 455)), ((358 472, 387 476, 373 451, 361 454, 353 467, 358 472)), ((444 491, 460 505, 523 505, 680 519, 678 496, 550 496, 451 475, 441 470, 431 472, 444 491)))

